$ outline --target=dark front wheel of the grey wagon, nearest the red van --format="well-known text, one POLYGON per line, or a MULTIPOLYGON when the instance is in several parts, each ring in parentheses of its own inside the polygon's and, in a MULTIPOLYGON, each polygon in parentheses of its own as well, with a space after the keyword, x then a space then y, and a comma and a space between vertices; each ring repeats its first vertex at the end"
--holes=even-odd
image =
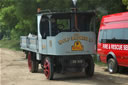
POLYGON ((86 59, 87 67, 85 68, 85 74, 87 78, 91 78, 94 75, 94 61, 92 56, 86 59))

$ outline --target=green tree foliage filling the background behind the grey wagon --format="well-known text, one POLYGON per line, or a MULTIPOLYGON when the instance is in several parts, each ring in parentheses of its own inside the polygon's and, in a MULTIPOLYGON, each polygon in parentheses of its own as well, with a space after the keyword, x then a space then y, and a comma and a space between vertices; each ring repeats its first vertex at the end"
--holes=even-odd
MULTIPOLYGON (((128 0, 123 0, 123 3, 128 5, 128 0)), ((77 6, 80 11, 97 10, 98 18, 125 10, 122 0, 78 0, 77 6)), ((1 0, 0 33, 13 40, 21 35, 36 34, 37 8, 70 10, 72 0, 1 0)))

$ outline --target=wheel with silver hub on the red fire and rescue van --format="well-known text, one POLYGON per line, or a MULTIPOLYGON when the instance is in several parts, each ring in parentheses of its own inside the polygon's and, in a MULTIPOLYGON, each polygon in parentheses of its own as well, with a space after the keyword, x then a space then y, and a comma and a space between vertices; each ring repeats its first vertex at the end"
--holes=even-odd
POLYGON ((108 60, 108 71, 109 73, 116 73, 118 71, 118 65, 115 61, 115 59, 110 58, 108 60))

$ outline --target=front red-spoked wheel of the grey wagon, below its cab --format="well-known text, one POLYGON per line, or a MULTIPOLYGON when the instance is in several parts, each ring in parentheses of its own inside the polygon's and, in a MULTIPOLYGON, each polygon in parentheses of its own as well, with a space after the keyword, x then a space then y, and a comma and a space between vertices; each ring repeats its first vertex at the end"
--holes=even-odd
POLYGON ((46 57, 44 60, 44 74, 47 79, 52 80, 53 79, 53 62, 50 57, 46 57))

